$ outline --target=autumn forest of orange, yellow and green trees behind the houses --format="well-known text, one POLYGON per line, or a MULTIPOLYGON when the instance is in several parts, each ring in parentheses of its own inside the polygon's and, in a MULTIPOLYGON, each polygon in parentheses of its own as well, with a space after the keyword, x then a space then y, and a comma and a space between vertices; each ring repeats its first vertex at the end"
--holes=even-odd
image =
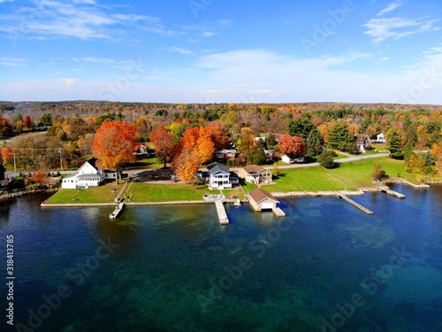
POLYGON ((107 122, 133 126, 133 142, 153 144, 159 162, 183 179, 225 148, 237 150, 236 166, 272 164, 269 150, 311 161, 325 148, 357 153, 356 135, 380 133, 408 172, 423 180, 442 174, 442 106, 410 104, 0 102, 4 167, 15 160, 20 171, 77 169, 96 154, 97 131, 107 122))

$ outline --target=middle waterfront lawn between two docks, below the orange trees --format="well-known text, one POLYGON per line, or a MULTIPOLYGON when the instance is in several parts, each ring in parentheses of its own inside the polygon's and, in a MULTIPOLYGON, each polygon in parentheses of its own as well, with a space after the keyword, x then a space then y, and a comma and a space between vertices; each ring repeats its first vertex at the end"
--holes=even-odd
MULTIPOLYGON (((127 194, 131 197, 130 202, 202 200, 204 193, 210 193, 206 185, 195 187, 185 183, 150 184, 133 182, 127 189, 127 194)), ((219 191, 217 190, 216 193, 218 194, 219 191)))

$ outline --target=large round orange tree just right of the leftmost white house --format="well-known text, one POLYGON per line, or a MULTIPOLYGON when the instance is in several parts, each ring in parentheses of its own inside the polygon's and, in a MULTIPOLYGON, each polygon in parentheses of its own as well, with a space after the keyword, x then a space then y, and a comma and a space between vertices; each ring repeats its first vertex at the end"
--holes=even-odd
POLYGON ((124 121, 106 121, 98 128, 92 147, 92 154, 98 160, 98 166, 115 168, 116 181, 121 180, 123 164, 135 161, 133 146, 138 131, 124 121))

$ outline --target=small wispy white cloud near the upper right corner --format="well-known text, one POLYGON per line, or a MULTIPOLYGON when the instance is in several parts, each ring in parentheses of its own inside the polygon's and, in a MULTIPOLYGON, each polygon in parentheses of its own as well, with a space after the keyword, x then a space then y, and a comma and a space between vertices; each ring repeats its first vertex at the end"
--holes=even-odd
POLYGON ((385 19, 370 19, 370 21, 362 27, 366 27, 364 32, 370 35, 373 42, 385 42, 386 40, 399 40, 409 35, 421 34, 426 31, 437 30, 434 23, 438 19, 403 19, 399 17, 385 19))

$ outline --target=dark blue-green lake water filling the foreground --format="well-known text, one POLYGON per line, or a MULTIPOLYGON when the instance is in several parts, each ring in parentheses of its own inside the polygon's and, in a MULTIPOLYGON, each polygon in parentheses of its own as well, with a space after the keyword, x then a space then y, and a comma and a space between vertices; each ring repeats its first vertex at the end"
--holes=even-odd
POLYGON ((226 205, 0 205, 13 235, 11 331, 442 331, 442 187, 283 199, 286 218, 226 205), (29 328, 29 329, 27 329, 29 328), (32 329, 31 329, 32 328, 32 329))

